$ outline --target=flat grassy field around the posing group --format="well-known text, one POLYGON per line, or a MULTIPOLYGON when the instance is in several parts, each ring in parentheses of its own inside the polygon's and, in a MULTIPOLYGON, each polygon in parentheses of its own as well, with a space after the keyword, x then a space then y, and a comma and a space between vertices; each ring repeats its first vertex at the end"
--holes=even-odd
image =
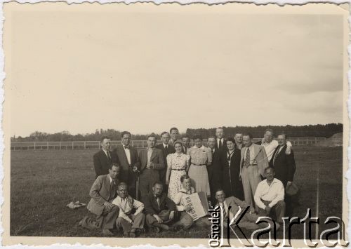
MULTIPOLYGON (((11 152, 12 236, 102 236, 77 224, 86 208, 70 210, 71 201, 88 203, 88 191, 95 180, 95 150, 49 150, 11 152)), ((295 182, 301 189, 298 217, 307 208, 315 217, 319 189, 319 218, 341 217, 343 152, 341 147, 294 147, 295 182), (319 188, 317 188, 317 177, 319 188)), ((335 226, 334 226, 335 227, 335 226)), ((329 227, 330 228, 330 227, 329 227)), ((326 229, 319 227, 319 231, 326 229)), ((292 229, 293 238, 303 238, 303 227, 292 229)), ((188 232, 142 234, 145 237, 208 238, 207 229, 188 232)), ((279 236, 279 234, 278 234, 279 236)))

